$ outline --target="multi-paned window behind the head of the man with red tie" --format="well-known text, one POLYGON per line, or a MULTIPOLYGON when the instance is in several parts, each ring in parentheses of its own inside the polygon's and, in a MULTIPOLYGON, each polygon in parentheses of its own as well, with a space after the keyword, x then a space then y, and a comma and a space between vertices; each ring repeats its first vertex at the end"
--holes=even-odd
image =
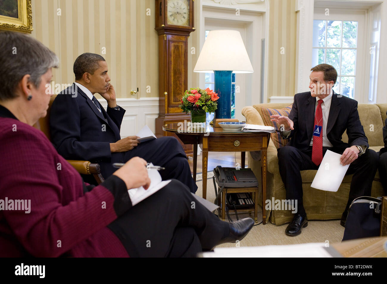
POLYGON ((312 65, 327 63, 334 66, 337 81, 333 90, 352 99, 356 77, 357 32, 357 21, 313 21, 312 65))

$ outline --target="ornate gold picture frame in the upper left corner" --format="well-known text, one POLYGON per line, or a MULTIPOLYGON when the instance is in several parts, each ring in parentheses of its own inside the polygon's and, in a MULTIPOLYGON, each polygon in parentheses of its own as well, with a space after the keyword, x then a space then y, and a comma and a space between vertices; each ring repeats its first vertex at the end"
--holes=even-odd
POLYGON ((32 27, 32 6, 31 0, 0 0, 8 5, 3 7, 16 7, 17 2, 17 17, 16 10, 0 10, 0 30, 26 32, 31 34, 32 27), (9 13, 8 13, 9 12, 9 13), (5 15, 7 14, 7 15, 5 15), (12 15, 13 14, 13 15, 12 15))

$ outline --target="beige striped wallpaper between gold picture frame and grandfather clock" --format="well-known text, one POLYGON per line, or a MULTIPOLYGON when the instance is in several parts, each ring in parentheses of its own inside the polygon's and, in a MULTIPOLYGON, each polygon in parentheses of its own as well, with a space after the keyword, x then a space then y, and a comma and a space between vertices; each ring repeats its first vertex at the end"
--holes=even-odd
POLYGON ((34 0, 32 9, 32 36, 60 58, 55 83, 74 82, 75 59, 91 52, 107 61, 118 98, 158 97, 154 0, 34 0))

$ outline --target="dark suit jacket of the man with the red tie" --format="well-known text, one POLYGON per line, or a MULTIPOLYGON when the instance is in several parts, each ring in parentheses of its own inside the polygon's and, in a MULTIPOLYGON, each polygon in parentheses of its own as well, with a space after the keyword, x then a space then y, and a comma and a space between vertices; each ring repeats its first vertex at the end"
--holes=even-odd
MULTIPOLYGON (((314 128, 316 98, 310 92, 294 96, 294 103, 289 118, 294 122, 290 141, 286 146, 293 146, 301 151, 309 148, 314 128)), ((327 138, 334 148, 344 150, 353 145, 365 145, 368 139, 360 123, 358 102, 348 97, 337 97, 333 92, 327 123, 327 138), (347 130, 348 143, 341 141, 342 134, 347 130)))

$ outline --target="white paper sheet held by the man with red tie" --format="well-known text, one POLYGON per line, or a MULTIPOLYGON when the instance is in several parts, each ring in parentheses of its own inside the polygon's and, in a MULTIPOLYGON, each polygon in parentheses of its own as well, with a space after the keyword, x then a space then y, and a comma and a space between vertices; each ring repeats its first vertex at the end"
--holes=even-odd
POLYGON ((327 150, 310 185, 313 188, 336 192, 344 179, 349 165, 340 164, 341 154, 327 150))

